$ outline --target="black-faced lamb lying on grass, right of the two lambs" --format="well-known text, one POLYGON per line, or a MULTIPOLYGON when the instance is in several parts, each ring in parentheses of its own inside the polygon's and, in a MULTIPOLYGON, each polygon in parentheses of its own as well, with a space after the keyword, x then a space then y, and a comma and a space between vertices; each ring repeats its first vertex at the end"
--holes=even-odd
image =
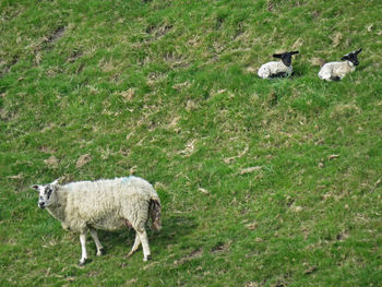
POLYGON ((347 73, 354 72, 356 70, 356 65, 359 64, 357 56, 361 52, 361 50, 362 48, 345 55, 343 58, 341 58, 343 62, 325 63, 319 72, 320 79, 325 81, 339 81, 347 73))

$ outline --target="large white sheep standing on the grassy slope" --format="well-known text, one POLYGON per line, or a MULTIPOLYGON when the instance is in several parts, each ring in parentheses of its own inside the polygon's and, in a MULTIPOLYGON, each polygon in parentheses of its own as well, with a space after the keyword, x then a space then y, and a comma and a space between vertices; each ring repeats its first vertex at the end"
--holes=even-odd
POLYGON ((153 228, 159 230, 160 201, 153 186, 144 179, 130 176, 98 181, 79 181, 60 186, 32 187, 39 191, 38 206, 61 222, 64 229, 80 232, 82 256, 85 264, 86 234, 89 230, 97 247, 97 256, 104 253, 96 229, 117 230, 123 227, 135 230, 135 241, 128 254, 132 255, 142 242, 143 261, 151 259, 145 224, 152 217, 153 228))

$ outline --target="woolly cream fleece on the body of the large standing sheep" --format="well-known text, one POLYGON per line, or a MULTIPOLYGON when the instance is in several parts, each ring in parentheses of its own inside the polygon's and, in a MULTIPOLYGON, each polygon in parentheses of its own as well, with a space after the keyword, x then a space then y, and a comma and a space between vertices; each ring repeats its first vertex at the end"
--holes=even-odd
POLYGON ((61 206, 48 208, 49 213, 61 220, 62 227, 79 232, 88 226, 121 229, 126 227, 124 219, 141 227, 148 219, 150 200, 158 199, 152 184, 132 176, 58 186, 56 195, 61 206))

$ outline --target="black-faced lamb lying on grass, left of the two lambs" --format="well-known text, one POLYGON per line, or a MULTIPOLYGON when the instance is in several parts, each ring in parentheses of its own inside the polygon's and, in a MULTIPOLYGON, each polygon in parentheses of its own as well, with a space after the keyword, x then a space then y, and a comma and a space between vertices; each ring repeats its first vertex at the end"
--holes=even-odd
POLYGON ((260 67, 258 75, 262 79, 272 79, 278 76, 289 76, 293 72, 291 56, 298 51, 274 53, 274 58, 279 58, 282 61, 272 61, 260 67))

